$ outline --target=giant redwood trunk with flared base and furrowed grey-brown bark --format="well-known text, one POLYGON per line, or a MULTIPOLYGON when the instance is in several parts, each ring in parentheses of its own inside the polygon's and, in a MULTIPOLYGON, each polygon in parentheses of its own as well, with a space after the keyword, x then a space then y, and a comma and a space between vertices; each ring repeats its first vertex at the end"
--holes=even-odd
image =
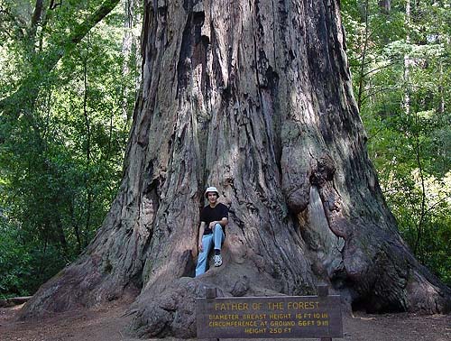
POLYGON ((194 336, 194 298, 312 294, 444 312, 400 239, 354 101, 337 0, 146 0, 124 180, 95 240, 23 318, 132 295, 138 336, 194 336), (192 278, 207 186, 230 207, 223 266, 192 278))

